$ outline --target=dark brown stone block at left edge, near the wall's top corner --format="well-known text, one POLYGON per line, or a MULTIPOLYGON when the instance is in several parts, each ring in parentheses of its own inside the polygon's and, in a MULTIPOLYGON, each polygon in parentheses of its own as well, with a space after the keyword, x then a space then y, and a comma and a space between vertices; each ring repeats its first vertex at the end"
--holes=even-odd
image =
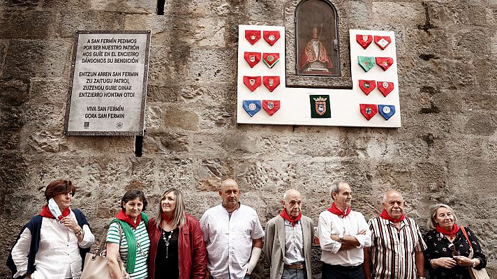
POLYGON ((55 14, 41 10, 2 10, 0 38, 43 39, 57 36, 55 14))

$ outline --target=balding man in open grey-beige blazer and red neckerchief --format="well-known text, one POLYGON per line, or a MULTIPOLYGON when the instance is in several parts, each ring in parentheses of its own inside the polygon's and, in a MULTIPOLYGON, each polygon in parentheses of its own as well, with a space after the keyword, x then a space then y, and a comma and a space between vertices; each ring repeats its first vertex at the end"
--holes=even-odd
POLYGON ((311 279, 313 222, 302 215, 302 195, 290 189, 283 195, 283 211, 266 226, 264 253, 271 279, 311 279))

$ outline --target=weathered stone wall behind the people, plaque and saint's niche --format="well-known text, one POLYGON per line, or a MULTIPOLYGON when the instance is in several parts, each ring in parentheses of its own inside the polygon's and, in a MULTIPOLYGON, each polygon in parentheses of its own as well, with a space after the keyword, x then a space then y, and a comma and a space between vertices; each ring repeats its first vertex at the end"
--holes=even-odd
MULTIPOLYGON (((237 27, 283 25, 283 0, 168 0, 163 16, 154 0, 0 0, 0 262, 58 178, 74 181, 98 239, 134 186, 151 215, 175 186, 200 218, 233 177, 263 225, 297 188, 317 223, 341 178, 366 218, 387 188, 424 230, 429 205, 450 204, 497 278, 497 1, 340 4, 351 28, 396 32, 402 128, 237 125, 237 27), (62 134, 76 29, 152 31, 142 157, 133 137, 62 134)), ((267 278, 263 259, 255 273, 267 278)))

